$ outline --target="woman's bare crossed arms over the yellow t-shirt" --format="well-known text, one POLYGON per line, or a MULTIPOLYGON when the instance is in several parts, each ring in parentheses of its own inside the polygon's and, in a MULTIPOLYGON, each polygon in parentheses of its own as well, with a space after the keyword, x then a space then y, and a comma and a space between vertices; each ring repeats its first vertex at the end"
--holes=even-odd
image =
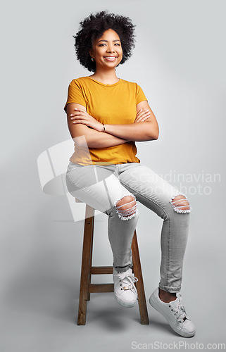
MULTIPOLYGON (((84 136, 90 148, 106 148, 129 141, 151 141, 158 139, 158 122, 148 101, 137 104, 137 116, 134 123, 127 125, 103 125, 87 113, 84 106, 77 103, 67 105, 68 128, 71 137, 84 136), (89 128, 91 127, 91 128, 89 128)), ((81 139, 81 144, 84 141, 81 139)))

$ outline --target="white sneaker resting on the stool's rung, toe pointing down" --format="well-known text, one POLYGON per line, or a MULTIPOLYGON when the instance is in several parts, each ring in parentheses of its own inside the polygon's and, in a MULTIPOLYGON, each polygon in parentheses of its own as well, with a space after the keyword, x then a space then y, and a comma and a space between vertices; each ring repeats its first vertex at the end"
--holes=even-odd
POLYGON ((134 282, 137 277, 132 274, 132 269, 125 272, 113 270, 114 294, 116 301, 123 307, 134 307, 137 301, 137 289, 134 282))

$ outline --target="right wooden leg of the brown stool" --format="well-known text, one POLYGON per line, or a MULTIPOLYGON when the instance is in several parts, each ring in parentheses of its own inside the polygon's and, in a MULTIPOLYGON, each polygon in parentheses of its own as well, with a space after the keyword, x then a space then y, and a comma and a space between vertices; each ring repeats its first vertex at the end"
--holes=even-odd
POLYGON ((132 239, 132 262, 134 275, 139 280, 136 282, 138 303, 139 303, 139 314, 142 324, 149 324, 149 315, 146 308, 146 297, 144 292, 144 282, 142 277, 142 265, 139 258, 139 249, 137 244, 137 232, 134 231, 134 237, 132 239))

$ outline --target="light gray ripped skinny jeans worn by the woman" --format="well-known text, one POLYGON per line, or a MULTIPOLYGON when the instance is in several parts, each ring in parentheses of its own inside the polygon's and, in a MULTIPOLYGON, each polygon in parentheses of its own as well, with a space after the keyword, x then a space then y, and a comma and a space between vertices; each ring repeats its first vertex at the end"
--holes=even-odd
POLYGON ((191 211, 184 194, 141 163, 84 166, 70 162, 66 184, 70 194, 108 215, 113 266, 118 272, 132 267, 131 244, 139 217, 137 201, 160 216, 159 287, 180 291, 191 211))

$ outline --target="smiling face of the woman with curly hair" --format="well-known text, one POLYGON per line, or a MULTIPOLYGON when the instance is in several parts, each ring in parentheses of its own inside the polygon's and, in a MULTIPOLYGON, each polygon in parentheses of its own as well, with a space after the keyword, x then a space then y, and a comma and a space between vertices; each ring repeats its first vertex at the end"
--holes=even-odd
POLYGON ((95 40, 89 54, 96 61, 96 70, 115 68, 123 58, 120 37, 114 30, 106 30, 99 39, 95 40))

